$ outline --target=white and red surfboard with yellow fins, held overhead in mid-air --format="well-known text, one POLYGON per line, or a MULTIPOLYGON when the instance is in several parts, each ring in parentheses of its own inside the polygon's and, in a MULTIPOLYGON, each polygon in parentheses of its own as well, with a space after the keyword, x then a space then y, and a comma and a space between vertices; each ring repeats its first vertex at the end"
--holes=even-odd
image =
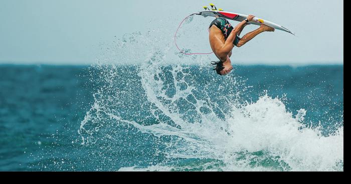
MULTIPOLYGON (((213 3, 211 3, 210 5, 212 7, 211 9, 208 8, 207 6, 204 6, 205 11, 200 11, 199 14, 204 16, 204 17, 218 15, 220 17, 223 17, 226 19, 231 19, 231 20, 236 20, 236 21, 243 21, 243 20, 245 20, 245 18, 248 17, 248 15, 246 15, 246 14, 224 11, 222 8, 217 9, 217 7, 213 3)), ((268 25, 268 26, 273 27, 275 29, 283 30, 283 31, 289 32, 291 34, 294 34, 289 29, 287 29, 287 28, 285 28, 277 23, 274 23, 272 21, 265 20, 263 18, 254 17, 254 19, 252 21, 249 21, 249 23, 254 24, 254 25, 265 24, 265 25, 268 25)))

